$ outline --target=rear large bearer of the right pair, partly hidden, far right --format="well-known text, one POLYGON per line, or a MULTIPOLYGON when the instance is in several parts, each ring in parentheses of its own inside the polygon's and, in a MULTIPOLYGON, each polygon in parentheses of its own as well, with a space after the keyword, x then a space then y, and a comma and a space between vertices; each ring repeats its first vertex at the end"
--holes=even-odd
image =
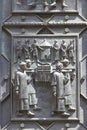
POLYGON ((65 84, 64 84, 64 96, 65 96, 65 106, 67 106, 69 111, 75 111, 76 109, 73 107, 73 100, 72 100, 72 80, 75 78, 75 73, 73 72, 74 69, 71 68, 71 65, 69 63, 68 59, 63 60, 63 65, 67 71, 64 72, 65 76, 65 84), (71 69, 69 69, 69 66, 71 69), (73 79, 71 79, 71 76, 74 76, 73 79))

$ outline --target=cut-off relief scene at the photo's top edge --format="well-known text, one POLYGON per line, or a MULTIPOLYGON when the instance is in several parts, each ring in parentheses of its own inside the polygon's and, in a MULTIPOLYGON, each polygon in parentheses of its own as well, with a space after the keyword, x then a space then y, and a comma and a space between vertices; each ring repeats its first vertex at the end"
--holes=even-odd
POLYGON ((77 3, 72 0, 14 0, 13 11, 64 11, 76 10, 77 3), (72 6, 70 5, 72 3, 72 6))

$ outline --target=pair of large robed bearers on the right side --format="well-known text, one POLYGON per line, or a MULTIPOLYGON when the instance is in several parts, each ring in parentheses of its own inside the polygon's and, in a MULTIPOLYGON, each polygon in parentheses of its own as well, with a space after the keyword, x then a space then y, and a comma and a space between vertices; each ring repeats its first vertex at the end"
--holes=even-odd
MULTIPOLYGON (((67 67, 69 61, 66 60, 65 64, 67 67)), ((72 81, 75 78, 75 73, 70 72, 70 70, 63 71, 63 67, 63 64, 59 62, 52 75, 52 115, 70 116, 68 111, 75 111, 72 101, 72 81)))

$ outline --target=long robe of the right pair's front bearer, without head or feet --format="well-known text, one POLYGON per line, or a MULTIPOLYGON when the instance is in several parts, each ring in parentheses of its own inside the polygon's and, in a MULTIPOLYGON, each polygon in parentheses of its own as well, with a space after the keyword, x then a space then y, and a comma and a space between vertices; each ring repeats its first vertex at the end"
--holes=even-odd
POLYGON ((64 99, 64 75, 62 72, 54 72, 52 77, 52 111, 64 112, 65 99, 64 99))

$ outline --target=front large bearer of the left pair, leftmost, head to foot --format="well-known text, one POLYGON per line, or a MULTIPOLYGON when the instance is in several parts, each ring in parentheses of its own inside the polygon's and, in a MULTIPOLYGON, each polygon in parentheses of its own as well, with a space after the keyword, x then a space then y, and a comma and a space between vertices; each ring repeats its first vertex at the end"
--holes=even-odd
POLYGON ((20 70, 18 70, 15 74, 16 93, 19 95, 19 113, 26 113, 29 116, 34 116, 34 113, 32 113, 29 108, 27 85, 28 78, 25 72, 26 63, 21 62, 19 67, 20 70))

